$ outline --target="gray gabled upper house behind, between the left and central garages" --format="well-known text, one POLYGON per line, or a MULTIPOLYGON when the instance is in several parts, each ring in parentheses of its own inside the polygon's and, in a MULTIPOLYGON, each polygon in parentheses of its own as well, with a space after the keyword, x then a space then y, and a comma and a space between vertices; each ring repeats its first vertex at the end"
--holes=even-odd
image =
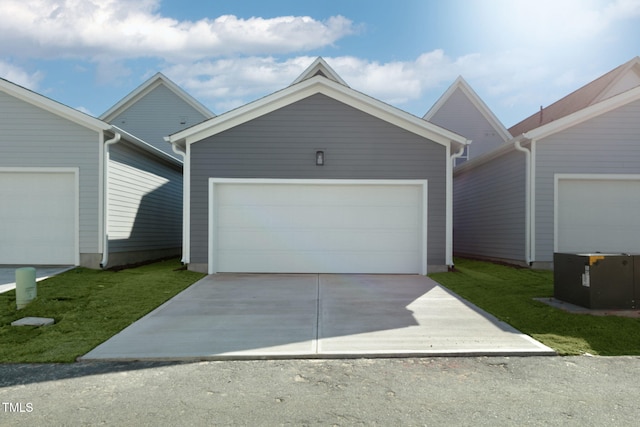
POLYGON ((162 73, 157 73, 100 116, 165 153, 180 158, 164 137, 215 117, 162 73))

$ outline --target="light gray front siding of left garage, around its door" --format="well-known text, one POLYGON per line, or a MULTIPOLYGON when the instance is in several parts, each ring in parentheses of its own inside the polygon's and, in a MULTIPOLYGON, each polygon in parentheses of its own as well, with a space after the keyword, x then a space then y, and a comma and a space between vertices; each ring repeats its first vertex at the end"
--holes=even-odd
POLYGON ((0 167, 80 170, 80 252, 99 249, 100 134, 0 91, 0 167))

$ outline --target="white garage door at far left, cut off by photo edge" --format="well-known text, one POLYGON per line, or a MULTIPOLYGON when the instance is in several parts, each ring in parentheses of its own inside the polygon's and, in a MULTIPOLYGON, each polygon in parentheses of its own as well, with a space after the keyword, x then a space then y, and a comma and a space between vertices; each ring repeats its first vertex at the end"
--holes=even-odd
POLYGON ((0 264, 76 262, 74 172, 0 171, 0 264))

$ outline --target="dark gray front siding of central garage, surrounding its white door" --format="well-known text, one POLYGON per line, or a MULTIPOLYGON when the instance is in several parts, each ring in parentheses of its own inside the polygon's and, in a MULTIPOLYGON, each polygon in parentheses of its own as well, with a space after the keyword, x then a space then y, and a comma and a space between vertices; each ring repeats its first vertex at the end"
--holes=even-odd
POLYGON ((428 263, 445 264, 446 149, 317 94, 191 146, 191 262, 207 263, 208 179, 428 179, 428 263), (316 150, 325 165, 315 165, 316 150))

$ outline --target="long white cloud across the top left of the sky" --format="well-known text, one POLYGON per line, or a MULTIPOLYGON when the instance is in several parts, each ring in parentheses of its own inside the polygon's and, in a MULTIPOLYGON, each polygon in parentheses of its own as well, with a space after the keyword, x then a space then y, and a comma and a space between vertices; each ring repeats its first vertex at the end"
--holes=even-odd
POLYGON ((42 57, 160 57, 170 62, 230 54, 282 54, 331 45, 355 31, 342 16, 178 21, 159 0, 3 0, 0 53, 42 57))

